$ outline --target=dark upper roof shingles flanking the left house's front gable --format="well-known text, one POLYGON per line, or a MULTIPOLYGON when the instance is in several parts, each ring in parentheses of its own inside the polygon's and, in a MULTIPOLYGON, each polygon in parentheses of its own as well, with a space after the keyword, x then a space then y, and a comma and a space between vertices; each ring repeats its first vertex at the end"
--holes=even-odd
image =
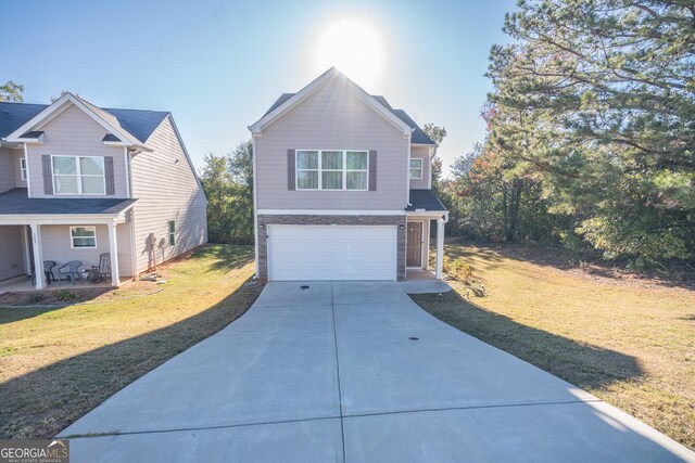
MULTIPOLYGON (((84 100, 83 100, 84 101, 84 100)), ((90 104, 91 105, 91 104, 90 104)), ((5 138, 43 111, 46 104, 0 103, 0 138, 5 138)), ((113 116, 124 130, 144 143, 169 115, 162 111, 100 108, 113 116)))

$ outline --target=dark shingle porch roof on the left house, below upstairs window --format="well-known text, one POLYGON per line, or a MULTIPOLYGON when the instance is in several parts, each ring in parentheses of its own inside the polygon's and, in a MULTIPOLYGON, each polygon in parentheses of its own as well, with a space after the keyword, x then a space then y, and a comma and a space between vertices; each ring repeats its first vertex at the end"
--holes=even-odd
POLYGON ((15 188, 0 193, 0 216, 31 214, 118 214, 138 200, 116 198, 37 198, 28 197, 25 188, 15 188))

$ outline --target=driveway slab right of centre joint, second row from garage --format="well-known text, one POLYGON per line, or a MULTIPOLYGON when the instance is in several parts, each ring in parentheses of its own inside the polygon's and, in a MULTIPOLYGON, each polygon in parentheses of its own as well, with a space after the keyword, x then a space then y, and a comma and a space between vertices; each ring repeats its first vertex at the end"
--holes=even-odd
POLYGON ((448 327, 413 303, 337 304, 333 310, 338 332, 448 327))

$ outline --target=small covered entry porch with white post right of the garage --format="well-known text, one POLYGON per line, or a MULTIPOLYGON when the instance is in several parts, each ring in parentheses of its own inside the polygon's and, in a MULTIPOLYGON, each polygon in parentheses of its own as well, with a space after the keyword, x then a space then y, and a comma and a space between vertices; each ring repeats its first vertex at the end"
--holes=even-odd
POLYGON ((406 281, 441 280, 444 263, 444 227, 448 210, 431 190, 410 190, 406 209, 406 281), (435 260, 430 268, 432 228, 435 228, 435 260))

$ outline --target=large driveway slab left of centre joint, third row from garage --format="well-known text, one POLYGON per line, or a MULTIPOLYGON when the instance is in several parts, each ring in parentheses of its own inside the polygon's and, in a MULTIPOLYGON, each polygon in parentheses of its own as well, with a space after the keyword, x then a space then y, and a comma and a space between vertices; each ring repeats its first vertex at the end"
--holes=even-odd
POLYGON ((118 391, 61 436, 336 416, 332 335, 216 335, 118 391))

